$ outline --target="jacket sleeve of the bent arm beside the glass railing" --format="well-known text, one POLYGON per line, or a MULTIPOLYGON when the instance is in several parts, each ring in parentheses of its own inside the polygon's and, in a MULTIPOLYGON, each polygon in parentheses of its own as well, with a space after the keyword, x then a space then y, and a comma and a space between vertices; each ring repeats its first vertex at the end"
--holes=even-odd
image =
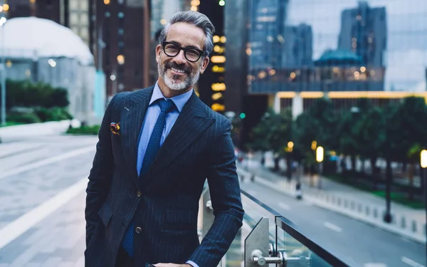
POLYGON ((189 258, 189 261, 203 267, 218 265, 241 228, 244 214, 231 140, 231 122, 225 117, 219 119, 221 122, 213 125, 219 129, 212 143, 207 177, 215 220, 200 246, 189 258))

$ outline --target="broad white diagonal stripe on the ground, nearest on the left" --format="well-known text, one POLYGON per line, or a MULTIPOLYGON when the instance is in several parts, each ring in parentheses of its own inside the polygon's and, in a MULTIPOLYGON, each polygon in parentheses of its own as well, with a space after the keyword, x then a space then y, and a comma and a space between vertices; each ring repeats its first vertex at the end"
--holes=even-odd
POLYGON ((0 249, 52 214, 53 211, 67 204, 78 194, 85 192, 87 185, 88 179, 82 179, 4 226, 4 228, 0 229, 0 249))

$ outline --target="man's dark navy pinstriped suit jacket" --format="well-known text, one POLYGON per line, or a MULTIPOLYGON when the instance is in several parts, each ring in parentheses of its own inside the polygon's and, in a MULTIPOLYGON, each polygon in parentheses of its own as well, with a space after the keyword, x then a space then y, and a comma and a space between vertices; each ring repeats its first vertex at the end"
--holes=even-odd
POLYGON ((152 91, 119 93, 105 111, 86 190, 85 266, 114 266, 134 216, 142 229, 135 233, 136 266, 191 260, 214 267, 241 228, 231 123, 195 93, 146 176, 138 177, 137 142, 152 91), (110 131, 110 122, 120 122, 120 135, 110 131), (206 178, 215 221, 199 244, 197 213, 206 178))

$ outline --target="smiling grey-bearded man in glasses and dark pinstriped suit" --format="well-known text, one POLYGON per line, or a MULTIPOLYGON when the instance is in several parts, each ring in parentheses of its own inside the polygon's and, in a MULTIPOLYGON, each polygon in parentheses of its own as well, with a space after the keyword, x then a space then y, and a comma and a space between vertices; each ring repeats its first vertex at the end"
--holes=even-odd
POLYGON ((192 89, 213 33, 203 14, 175 14, 156 48, 156 85, 108 105, 86 190, 85 266, 214 267, 240 229, 231 123, 192 89), (206 178, 215 220, 199 244, 206 178))

